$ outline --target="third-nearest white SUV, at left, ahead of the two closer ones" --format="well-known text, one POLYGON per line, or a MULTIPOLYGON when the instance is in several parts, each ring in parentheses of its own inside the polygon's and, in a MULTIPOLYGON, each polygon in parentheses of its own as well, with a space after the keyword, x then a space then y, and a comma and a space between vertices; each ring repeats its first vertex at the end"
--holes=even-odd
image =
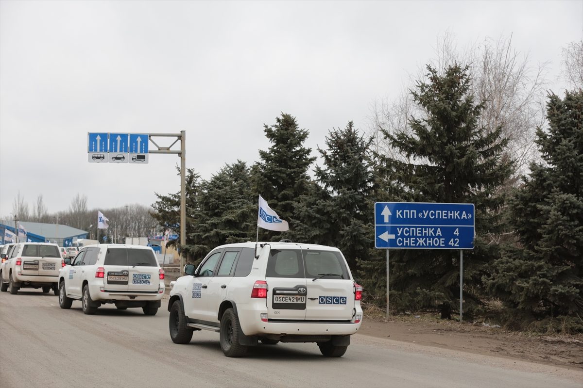
POLYGON ((16 294, 20 288, 51 289, 58 295, 58 279, 64 261, 57 244, 18 243, 2 263, 0 290, 16 294))

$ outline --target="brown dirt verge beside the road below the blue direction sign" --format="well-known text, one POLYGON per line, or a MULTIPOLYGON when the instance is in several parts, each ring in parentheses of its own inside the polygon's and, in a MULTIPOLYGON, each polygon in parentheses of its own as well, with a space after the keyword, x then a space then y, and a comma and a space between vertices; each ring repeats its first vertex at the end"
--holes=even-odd
POLYGON ((388 322, 365 315, 359 334, 583 370, 582 335, 508 332, 484 323, 444 321, 432 314, 396 316, 388 322))

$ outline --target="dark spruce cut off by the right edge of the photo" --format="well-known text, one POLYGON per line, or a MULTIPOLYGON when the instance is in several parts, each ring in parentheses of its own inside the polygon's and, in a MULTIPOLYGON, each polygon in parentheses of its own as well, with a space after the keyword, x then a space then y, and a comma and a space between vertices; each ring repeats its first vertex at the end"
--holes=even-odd
POLYGON ((518 244, 509 245, 484 280, 509 308, 532 314, 583 312, 583 93, 549 95, 549 129, 536 143, 545 163, 510 201, 518 244))

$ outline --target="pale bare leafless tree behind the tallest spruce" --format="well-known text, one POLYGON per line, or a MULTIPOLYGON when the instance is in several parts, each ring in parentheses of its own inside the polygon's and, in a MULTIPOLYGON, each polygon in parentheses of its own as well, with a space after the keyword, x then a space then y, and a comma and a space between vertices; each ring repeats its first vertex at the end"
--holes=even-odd
MULTIPOLYGON (((510 140, 507 158, 516 161, 517 175, 525 173, 529 162, 539 157, 533 139, 536 127, 545 119, 547 63, 532 66, 528 53, 521 55, 512 48, 512 36, 498 40, 486 38, 479 44, 458 49, 450 31, 438 37, 435 58, 428 63, 439 72, 454 64, 470 65, 471 92, 476 104, 485 102, 480 124, 488 131, 503 126, 503 136, 510 140)), ((375 137, 377 152, 396 159, 405 158, 385 141, 382 131, 410 133, 410 118, 427 117, 427 112, 414 104, 410 95, 415 81, 424 79, 426 73, 423 67, 415 76, 409 74, 395 99, 378 99, 371 106, 368 132, 375 137)))

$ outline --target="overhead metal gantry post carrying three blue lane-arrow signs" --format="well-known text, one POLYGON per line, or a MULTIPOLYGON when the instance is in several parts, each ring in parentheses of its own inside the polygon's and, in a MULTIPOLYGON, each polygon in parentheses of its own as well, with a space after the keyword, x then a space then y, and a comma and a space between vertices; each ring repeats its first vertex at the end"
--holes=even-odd
MULTIPOLYGON (((186 244, 186 131, 180 133, 87 133, 89 162, 147 164, 148 154, 180 156, 180 245, 186 244), (152 137, 176 137, 169 147, 160 147, 152 137), (180 140, 180 151, 170 149, 180 140), (157 149, 149 149, 148 141, 157 149), (110 155, 111 153, 111 155, 110 155)), ((97 230, 99 243, 99 230, 97 230)), ((180 274, 184 275, 185 259, 180 255, 180 274)))

